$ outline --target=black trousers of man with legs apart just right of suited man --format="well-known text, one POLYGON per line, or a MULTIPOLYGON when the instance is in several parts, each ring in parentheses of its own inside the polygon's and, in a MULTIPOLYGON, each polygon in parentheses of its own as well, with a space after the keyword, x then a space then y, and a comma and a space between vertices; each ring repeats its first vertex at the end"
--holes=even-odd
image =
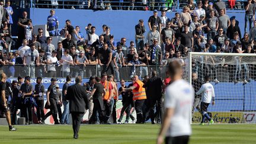
POLYGON ((93 100, 93 103, 94 103, 94 108, 92 110, 91 119, 89 120, 90 123, 95 123, 97 121, 97 112, 99 115, 100 122, 101 123, 105 122, 106 120, 105 120, 103 101, 93 100))

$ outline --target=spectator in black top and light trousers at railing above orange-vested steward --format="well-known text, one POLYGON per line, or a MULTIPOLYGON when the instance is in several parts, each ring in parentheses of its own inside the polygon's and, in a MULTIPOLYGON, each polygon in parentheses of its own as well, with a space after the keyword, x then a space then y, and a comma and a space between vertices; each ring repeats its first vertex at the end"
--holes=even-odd
POLYGON ((144 44, 144 49, 140 50, 138 52, 139 60, 143 63, 145 63, 146 66, 140 67, 140 78, 143 78, 144 76, 148 75, 148 66, 149 62, 151 60, 151 52, 149 52, 149 44, 144 44))

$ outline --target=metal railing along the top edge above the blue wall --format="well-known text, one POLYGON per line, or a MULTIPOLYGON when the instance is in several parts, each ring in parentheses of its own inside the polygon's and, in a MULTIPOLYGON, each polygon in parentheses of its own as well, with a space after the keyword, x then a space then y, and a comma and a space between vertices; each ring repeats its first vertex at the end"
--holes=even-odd
MULTIPOLYGON (((38 0, 12 0, 12 4, 20 8, 65 8, 65 9, 109 9, 109 10, 154 10, 162 9, 177 11, 187 5, 187 1, 179 0, 168 3, 167 1, 160 0, 147 0, 145 2, 132 1, 109 1, 109 0, 57 0, 57 5, 52 3, 51 0, 38 1, 38 0)), ((216 1, 212 1, 216 2, 216 1)), ((244 9, 246 0, 236 0, 234 8, 229 7, 228 0, 223 0, 227 9, 244 9)))

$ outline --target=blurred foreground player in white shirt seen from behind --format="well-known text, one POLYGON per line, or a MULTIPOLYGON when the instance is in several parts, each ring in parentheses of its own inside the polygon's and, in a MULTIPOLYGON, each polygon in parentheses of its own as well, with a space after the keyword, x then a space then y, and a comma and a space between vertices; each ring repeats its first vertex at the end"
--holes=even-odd
POLYGON ((181 79, 181 65, 176 60, 169 63, 171 84, 165 92, 165 114, 157 143, 188 143, 191 135, 190 114, 194 89, 181 79), (182 87, 181 87, 182 85, 182 87))

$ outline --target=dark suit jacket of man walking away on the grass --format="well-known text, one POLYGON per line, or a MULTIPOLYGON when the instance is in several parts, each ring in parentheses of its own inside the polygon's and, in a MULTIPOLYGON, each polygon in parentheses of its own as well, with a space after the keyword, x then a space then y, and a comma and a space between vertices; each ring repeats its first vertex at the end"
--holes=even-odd
POLYGON ((69 100, 69 111, 72 112, 85 112, 88 110, 88 98, 87 92, 82 85, 75 84, 68 87, 66 100, 69 100))

